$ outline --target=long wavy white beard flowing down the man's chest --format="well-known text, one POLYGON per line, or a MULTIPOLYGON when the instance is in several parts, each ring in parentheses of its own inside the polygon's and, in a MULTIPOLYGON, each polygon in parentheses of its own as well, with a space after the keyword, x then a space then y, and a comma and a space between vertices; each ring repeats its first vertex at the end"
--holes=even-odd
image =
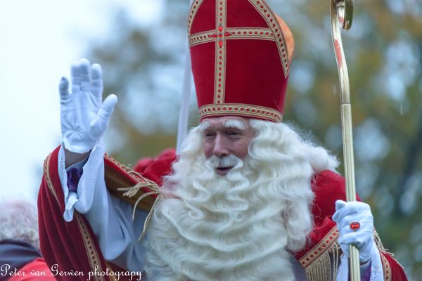
POLYGON ((312 229, 313 171, 304 152, 287 140, 287 158, 267 152, 261 159, 267 164, 260 164, 250 149, 244 162, 218 176, 196 152, 197 135, 191 132, 174 164, 167 198, 148 229, 148 279, 295 280, 290 251, 302 249, 312 229))

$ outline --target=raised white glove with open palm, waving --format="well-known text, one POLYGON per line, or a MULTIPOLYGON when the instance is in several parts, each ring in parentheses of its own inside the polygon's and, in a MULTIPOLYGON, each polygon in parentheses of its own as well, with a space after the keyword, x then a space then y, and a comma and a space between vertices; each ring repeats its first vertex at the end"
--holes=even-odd
POLYGON ((101 66, 90 67, 87 59, 72 64, 70 78, 72 93, 65 77, 59 86, 62 143, 71 152, 89 152, 106 131, 117 96, 112 94, 102 102, 101 66))

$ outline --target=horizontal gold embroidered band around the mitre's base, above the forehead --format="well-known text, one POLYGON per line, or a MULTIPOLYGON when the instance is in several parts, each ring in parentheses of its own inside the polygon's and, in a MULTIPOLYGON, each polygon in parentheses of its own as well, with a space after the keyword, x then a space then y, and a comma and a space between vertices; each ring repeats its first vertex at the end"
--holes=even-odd
POLYGON ((281 122, 283 115, 277 110, 257 105, 245 105, 241 103, 223 103, 222 105, 204 105, 199 109, 200 117, 213 115, 243 115, 245 117, 257 117, 270 119, 273 122, 281 122))

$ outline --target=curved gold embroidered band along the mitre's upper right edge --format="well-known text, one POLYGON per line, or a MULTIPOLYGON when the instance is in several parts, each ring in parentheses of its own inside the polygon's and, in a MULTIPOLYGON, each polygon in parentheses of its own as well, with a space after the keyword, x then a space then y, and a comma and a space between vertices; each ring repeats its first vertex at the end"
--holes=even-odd
POLYGON ((286 47, 286 40, 284 39, 281 26, 276 19, 276 16, 271 11, 271 8, 265 3, 264 0, 248 0, 255 9, 260 12, 262 18, 267 22, 269 28, 271 28, 274 33, 274 39, 276 40, 277 47, 279 48, 279 55, 281 60, 281 65, 283 65, 284 77, 287 77, 289 71, 289 60, 286 47))

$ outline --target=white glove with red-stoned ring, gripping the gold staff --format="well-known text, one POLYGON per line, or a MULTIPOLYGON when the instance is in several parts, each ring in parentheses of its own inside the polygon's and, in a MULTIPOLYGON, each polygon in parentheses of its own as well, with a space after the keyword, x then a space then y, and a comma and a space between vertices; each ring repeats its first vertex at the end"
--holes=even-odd
POLYGON ((340 232, 338 243, 346 256, 349 256, 350 244, 354 244, 359 250, 359 260, 362 263, 378 254, 373 241, 373 216, 369 204, 337 200, 333 221, 337 223, 340 232), (350 223, 354 222, 360 223, 359 229, 350 228, 350 223))

